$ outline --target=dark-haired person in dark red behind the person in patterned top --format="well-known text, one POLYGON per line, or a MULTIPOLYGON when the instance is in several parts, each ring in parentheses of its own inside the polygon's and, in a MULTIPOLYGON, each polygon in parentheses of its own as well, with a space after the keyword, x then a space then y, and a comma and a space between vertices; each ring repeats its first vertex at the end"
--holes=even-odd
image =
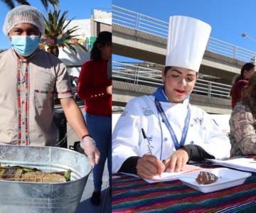
POLYGON ((253 75, 254 72, 255 65, 251 62, 248 62, 242 66, 241 73, 238 77, 235 78, 235 82, 230 91, 232 109, 234 109, 235 104, 240 102, 242 99, 242 88, 247 85, 249 78, 253 75))

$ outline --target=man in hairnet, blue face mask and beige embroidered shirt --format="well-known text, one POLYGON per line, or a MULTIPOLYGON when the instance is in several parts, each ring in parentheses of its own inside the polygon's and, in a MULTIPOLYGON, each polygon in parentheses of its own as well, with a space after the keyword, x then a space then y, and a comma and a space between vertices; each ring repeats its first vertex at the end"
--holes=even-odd
POLYGON ((38 48, 45 31, 41 12, 33 6, 17 6, 7 13, 3 31, 11 49, 0 54, 0 143, 55 146, 53 95, 57 93, 68 123, 95 165, 100 153, 72 98, 67 69, 54 55, 38 48))

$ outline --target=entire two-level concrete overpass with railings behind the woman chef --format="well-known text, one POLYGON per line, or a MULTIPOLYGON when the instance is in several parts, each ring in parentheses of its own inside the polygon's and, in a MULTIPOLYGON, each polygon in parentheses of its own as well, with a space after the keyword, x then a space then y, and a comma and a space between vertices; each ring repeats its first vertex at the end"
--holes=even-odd
MULTIPOLYGON (((166 21, 113 5, 112 53, 164 65, 168 28, 169 23, 166 21)), ((194 89, 195 93, 191 94, 191 104, 201 107, 209 113, 230 114, 231 104, 227 88, 232 84, 235 75, 240 74, 240 69, 245 62, 255 62, 255 55, 256 53, 250 50, 210 37, 199 72, 213 76, 209 79, 214 80, 212 82, 209 80, 208 84, 215 84, 217 95, 213 97, 210 94, 211 86, 206 88, 201 84, 194 89), (204 95, 203 89, 208 91, 205 91, 204 95), (218 94, 223 94, 223 96, 218 96, 218 94)), ((128 65, 122 69, 119 68, 119 65, 114 67, 117 70, 112 70, 112 74, 114 74, 112 81, 113 106, 123 107, 129 99, 143 94, 151 94, 156 89, 154 80, 151 80, 149 75, 145 77, 143 70, 139 69, 133 72, 128 65), (139 73, 142 74, 139 75, 139 73), (140 77, 140 81, 137 77, 140 77), (134 83, 131 80, 134 80, 134 83)), ((207 83, 206 79, 202 81, 204 81, 203 84, 207 83)))

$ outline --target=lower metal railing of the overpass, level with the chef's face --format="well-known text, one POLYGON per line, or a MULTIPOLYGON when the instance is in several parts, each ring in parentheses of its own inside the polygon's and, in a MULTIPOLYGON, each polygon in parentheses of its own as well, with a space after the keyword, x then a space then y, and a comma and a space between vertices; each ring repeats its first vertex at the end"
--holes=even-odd
MULTIPOLYGON (((123 82, 132 82, 152 87, 163 85, 160 70, 115 61, 112 61, 112 80, 122 80, 123 82)), ((227 84, 198 79, 193 93, 229 99, 230 89, 231 86, 227 84)))

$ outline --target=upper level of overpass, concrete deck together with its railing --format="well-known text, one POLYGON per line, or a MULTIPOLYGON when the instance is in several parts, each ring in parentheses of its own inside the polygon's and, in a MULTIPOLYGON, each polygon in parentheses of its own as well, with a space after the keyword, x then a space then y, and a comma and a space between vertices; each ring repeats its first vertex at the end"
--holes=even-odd
MULTIPOLYGON (((169 23, 119 6, 112 6, 112 53, 164 65, 169 23)), ((255 53, 210 37, 200 73, 231 84, 255 53)))

